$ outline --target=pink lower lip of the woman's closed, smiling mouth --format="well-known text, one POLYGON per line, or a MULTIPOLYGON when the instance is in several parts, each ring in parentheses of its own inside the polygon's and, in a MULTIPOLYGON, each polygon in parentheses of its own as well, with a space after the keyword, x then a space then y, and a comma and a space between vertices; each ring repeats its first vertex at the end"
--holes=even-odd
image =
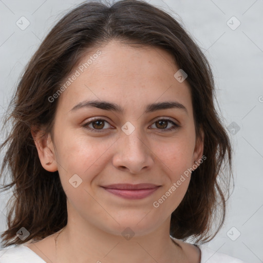
POLYGON ((159 186, 151 189, 141 189, 141 190, 121 190, 121 189, 111 189, 111 188, 104 188, 104 189, 110 192, 111 194, 126 199, 142 199, 154 193, 158 188, 159 186))

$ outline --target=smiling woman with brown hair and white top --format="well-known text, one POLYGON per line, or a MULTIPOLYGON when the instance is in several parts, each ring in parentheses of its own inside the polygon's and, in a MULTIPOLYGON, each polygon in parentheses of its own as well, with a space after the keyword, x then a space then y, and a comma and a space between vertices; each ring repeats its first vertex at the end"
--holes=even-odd
POLYGON ((213 98, 208 61, 164 11, 124 0, 66 14, 6 120, 2 238, 16 247, 0 262, 242 262, 203 245, 232 175, 213 98))

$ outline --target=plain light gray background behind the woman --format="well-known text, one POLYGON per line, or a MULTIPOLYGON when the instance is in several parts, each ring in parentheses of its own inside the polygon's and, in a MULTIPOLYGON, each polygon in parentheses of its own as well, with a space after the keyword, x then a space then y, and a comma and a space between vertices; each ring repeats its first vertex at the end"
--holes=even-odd
MULTIPOLYGON (((82 2, 0 0, 1 115, 41 40, 65 12, 82 2), (16 25, 21 16, 30 22, 25 30, 16 25)), ((235 122, 240 127, 236 134, 229 132, 235 148, 235 189, 228 202, 227 220, 206 245, 247 262, 263 262, 263 1, 147 2, 163 7, 183 22, 212 65, 223 122, 227 126, 235 122), (232 16, 241 23, 235 30, 227 24, 232 16), (231 240, 237 231, 241 235, 231 240)), ((237 25, 233 18, 229 23, 237 25)), ((0 232, 7 228, 5 205, 9 197, 10 193, 0 196, 0 232)))

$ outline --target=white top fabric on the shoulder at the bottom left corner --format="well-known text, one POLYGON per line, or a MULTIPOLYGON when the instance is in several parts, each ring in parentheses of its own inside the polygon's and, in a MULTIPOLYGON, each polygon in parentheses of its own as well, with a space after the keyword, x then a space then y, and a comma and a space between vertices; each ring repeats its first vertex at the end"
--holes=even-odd
POLYGON ((45 263, 26 246, 20 245, 0 250, 0 263, 45 263))

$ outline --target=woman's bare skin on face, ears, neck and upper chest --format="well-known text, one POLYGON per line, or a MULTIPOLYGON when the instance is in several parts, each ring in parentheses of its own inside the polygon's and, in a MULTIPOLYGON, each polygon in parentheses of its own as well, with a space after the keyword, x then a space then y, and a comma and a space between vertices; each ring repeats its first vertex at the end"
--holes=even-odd
POLYGON ((43 167, 59 171, 68 223, 59 236, 27 246, 46 262, 200 262, 198 248, 177 240, 180 249, 169 234, 171 214, 182 201, 191 175, 158 208, 153 206, 202 157, 189 84, 174 78, 179 68, 166 51, 118 41, 94 49, 78 66, 97 50, 102 52, 98 59, 58 98, 53 137, 42 138, 41 130, 32 129, 43 167), (95 107, 70 111, 84 100, 106 100, 124 112, 95 107), (144 113, 147 104, 163 101, 177 101, 187 113, 178 108, 144 113), (83 127, 92 117, 105 120, 97 126, 89 124, 102 132, 83 127), (167 118, 181 126, 166 132, 174 124, 156 122, 167 118), (129 135, 121 129, 127 121, 135 127, 129 135), (69 183, 74 174, 82 179, 76 188, 69 183), (161 186, 143 199, 128 200, 101 187, 113 183, 161 186), (129 240, 121 234, 127 227, 135 233, 129 240))

